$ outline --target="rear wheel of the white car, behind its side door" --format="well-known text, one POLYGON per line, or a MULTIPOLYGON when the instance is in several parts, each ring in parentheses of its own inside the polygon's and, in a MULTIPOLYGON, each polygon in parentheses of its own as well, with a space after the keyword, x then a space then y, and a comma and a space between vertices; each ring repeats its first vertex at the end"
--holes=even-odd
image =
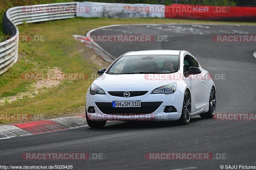
POLYGON ((214 117, 216 111, 216 94, 215 89, 212 87, 210 99, 209 99, 209 110, 207 113, 201 114, 200 117, 204 119, 209 119, 214 117))

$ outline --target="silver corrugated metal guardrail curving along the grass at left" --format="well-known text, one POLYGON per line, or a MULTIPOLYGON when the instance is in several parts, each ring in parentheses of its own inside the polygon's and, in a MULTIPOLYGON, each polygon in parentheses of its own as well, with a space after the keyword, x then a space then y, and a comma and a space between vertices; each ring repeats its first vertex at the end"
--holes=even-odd
POLYGON ((53 19, 65 19, 76 17, 76 2, 40 4, 31 6, 17 6, 6 11, 3 18, 4 34, 12 38, 0 43, 0 75, 12 67, 18 60, 19 30, 16 25, 53 19), (38 9, 51 9, 49 12, 38 9), (54 7, 56 10, 52 10, 54 7), (63 9, 71 10, 63 10, 63 9))

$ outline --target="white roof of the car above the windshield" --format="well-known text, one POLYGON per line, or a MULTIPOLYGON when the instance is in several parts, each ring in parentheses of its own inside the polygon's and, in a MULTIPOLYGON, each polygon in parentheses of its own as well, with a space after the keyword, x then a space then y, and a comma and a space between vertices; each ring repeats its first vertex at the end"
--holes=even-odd
POLYGON ((130 51, 124 54, 127 55, 179 55, 181 50, 143 50, 143 51, 130 51))

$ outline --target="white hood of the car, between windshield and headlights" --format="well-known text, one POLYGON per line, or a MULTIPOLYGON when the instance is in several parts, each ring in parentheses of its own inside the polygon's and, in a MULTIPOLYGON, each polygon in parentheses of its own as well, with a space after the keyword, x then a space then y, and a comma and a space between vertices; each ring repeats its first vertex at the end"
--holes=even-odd
POLYGON ((180 77, 171 74, 102 74, 93 83, 97 86, 113 86, 113 85, 156 85, 162 86, 172 82, 176 82, 180 77), (169 78, 168 78, 169 77, 169 78), (174 78, 175 77, 175 78, 174 78))

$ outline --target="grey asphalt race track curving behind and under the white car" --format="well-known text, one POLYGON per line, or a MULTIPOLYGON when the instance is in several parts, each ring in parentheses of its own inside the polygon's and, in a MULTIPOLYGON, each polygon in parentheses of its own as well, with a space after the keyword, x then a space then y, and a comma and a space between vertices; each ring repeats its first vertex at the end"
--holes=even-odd
MULTIPOLYGON (((255 26, 242 25, 121 25, 91 35, 160 35, 168 41, 98 42, 115 57, 148 49, 187 50, 212 75, 216 113, 256 113, 255 42, 214 42, 215 35, 256 35, 255 26), (218 78, 218 77, 217 77, 218 78)), ((256 166, 256 122, 201 119, 190 123, 107 122, 89 127, 0 140, 4 165, 73 165, 73 169, 220 169, 221 165, 256 166), (22 153, 102 153, 96 160, 23 160, 22 153), (224 153, 226 159, 148 160, 147 153, 224 153)))

